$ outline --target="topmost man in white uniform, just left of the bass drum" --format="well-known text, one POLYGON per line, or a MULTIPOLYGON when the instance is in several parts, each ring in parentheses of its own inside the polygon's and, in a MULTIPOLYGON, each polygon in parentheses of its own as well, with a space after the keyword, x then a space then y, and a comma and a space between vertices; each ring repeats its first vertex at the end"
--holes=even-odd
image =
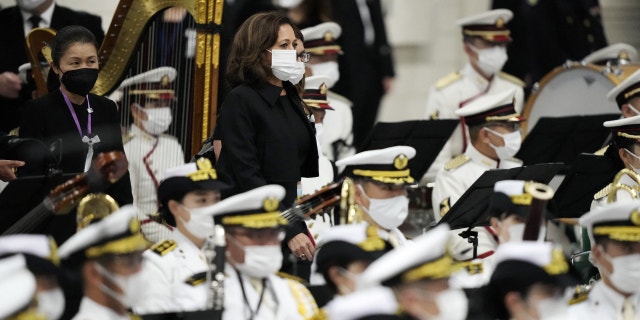
MULTIPOLYGON (((438 80, 429 91, 426 119, 459 119, 455 111, 485 95, 512 90, 515 92, 515 109, 522 111, 524 82, 500 72, 507 62, 507 44, 511 42, 506 23, 513 13, 506 9, 491 10, 457 21, 462 28, 464 52, 469 62, 461 71, 438 80)), ((425 175, 433 181, 436 174, 451 158, 462 154, 469 145, 464 126, 456 129, 442 148, 425 175)))

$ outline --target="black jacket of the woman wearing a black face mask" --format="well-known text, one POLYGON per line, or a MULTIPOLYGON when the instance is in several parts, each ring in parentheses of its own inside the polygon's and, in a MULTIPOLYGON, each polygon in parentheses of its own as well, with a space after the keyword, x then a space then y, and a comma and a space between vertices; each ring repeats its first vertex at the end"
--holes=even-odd
MULTIPOLYGON (((104 97, 89 94, 92 133, 100 137, 100 142, 94 145, 94 157, 100 152, 123 151, 122 134, 120 130, 120 115, 116 104, 104 97)), ((74 106, 78 121, 84 132, 87 130, 87 102, 82 106, 74 106)), ((24 106, 20 137, 36 138, 46 145, 60 141, 60 169, 64 173, 81 173, 84 170, 88 145, 76 127, 75 121, 62 97, 60 90, 53 91, 41 98, 31 100, 24 106)), ((56 152, 55 155, 58 153, 56 152)), ((27 160, 28 161, 28 160, 27 160)), ((37 173, 36 173, 37 174, 37 173)), ((122 179, 107 189, 120 206, 133 202, 131 182, 127 173, 122 179)), ((70 236, 75 232, 75 216, 69 214, 58 220, 64 226, 60 230, 49 230, 60 238, 70 236), (67 216, 72 216, 72 219, 67 216), (69 233, 70 232, 70 233, 69 233)), ((56 220, 54 219, 54 220, 56 220)), ((56 239, 59 240, 59 239, 56 239)), ((61 243, 61 242, 58 242, 61 243)))

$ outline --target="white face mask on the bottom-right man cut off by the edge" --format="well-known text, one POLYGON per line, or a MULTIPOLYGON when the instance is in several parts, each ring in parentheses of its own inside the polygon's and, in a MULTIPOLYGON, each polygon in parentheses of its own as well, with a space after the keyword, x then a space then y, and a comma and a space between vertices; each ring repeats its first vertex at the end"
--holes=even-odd
POLYGON ((640 253, 613 258, 604 251, 602 246, 600 251, 602 251, 602 257, 613 266, 611 273, 604 267, 598 267, 600 272, 607 275, 611 284, 622 292, 640 292, 640 253))

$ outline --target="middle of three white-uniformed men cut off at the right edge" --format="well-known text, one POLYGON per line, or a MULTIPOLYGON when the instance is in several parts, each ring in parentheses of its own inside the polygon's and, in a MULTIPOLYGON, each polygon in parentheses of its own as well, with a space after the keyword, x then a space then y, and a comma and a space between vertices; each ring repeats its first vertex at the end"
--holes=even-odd
MULTIPOLYGON (((640 102, 640 97, 637 99, 640 102)), ((631 105, 627 104, 627 106, 631 105)), ((637 189, 639 181, 633 175, 634 173, 640 174, 640 115, 607 121, 604 126, 611 129, 611 144, 609 144, 605 156, 610 157, 612 161, 621 163, 624 169, 631 171, 629 174, 624 174, 618 183, 628 186, 631 190, 637 189)), ((635 198, 627 190, 619 189, 615 191, 609 201, 612 186, 613 184, 609 183, 593 196, 591 210, 609 202, 631 201, 635 198)))

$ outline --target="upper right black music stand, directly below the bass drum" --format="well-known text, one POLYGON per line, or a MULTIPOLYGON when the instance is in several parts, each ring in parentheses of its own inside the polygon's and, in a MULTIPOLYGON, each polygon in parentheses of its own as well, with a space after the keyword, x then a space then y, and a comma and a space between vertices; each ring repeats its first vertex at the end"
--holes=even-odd
POLYGON ((602 123, 619 118, 620 114, 540 118, 522 142, 516 158, 525 165, 569 164, 580 153, 600 149, 611 132, 602 123))

